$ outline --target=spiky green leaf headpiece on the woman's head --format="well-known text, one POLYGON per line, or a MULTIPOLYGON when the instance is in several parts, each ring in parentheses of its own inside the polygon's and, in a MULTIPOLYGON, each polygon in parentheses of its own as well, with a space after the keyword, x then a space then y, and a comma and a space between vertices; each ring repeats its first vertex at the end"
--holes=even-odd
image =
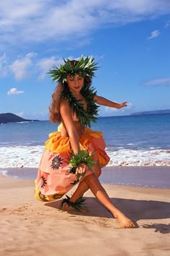
POLYGON ((71 61, 70 59, 63 59, 64 64, 61 67, 54 66, 54 69, 51 69, 48 74, 53 81, 64 83, 66 82, 66 76, 75 76, 80 74, 82 77, 92 78, 94 72, 98 69, 97 64, 94 62, 92 56, 81 56, 76 61, 71 61))

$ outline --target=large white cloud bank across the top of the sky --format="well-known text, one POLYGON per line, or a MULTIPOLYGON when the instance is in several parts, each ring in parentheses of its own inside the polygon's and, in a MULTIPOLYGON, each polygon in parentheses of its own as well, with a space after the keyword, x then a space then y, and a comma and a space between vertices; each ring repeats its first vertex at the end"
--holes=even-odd
POLYGON ((29 42, 79 38, 106 25, 151 19, 168 14, 167 0, 15 0, 0 1, 1 43, 22 47, 29 42), (9 43, 10 42, 10 43, 9 43))

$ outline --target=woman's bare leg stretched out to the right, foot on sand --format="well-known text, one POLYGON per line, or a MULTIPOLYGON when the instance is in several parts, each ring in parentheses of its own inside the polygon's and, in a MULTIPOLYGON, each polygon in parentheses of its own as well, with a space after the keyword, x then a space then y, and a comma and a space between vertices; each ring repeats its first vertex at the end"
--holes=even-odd
MULTIPOLYGON (((134 228, 135 224, 129 218, 127 218, 120 210, 115 208, 115 205, 112 204, 107 192, 102 187, 99 182, 99 179, 94 174, 86 176, 84 178, 87 186, 91 189, 91 192, 95 197, 102 202, 102 204, 112 213, 113 216, 120 222, 120 226, 123 228, 134 228)), ((74 197, 71 197, 71 202, 75 202, 74 197)))

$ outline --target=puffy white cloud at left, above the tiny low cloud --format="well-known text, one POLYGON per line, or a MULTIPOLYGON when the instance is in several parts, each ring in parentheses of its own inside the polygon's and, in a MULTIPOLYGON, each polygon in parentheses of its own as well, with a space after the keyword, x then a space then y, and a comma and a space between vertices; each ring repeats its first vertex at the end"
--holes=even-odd
POLYGON ((30 76, 30 67, 32 67, 32 57, 35 56, 35 53, 26 54, 22 59, 15 60, 9 68, 14 73, 16 80, 22 80, 25 77, 30 76))

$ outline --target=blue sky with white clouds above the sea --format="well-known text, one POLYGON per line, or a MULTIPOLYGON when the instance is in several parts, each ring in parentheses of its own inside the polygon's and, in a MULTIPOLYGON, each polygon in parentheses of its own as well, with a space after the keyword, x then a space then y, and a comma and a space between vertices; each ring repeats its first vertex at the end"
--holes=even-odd
POLYGON ((94 56, 93 86, 128 101, 100 116, 170 109, 170 1, 15 0, 0 2, 0 113, 48 119, 63 58, 94 56))

